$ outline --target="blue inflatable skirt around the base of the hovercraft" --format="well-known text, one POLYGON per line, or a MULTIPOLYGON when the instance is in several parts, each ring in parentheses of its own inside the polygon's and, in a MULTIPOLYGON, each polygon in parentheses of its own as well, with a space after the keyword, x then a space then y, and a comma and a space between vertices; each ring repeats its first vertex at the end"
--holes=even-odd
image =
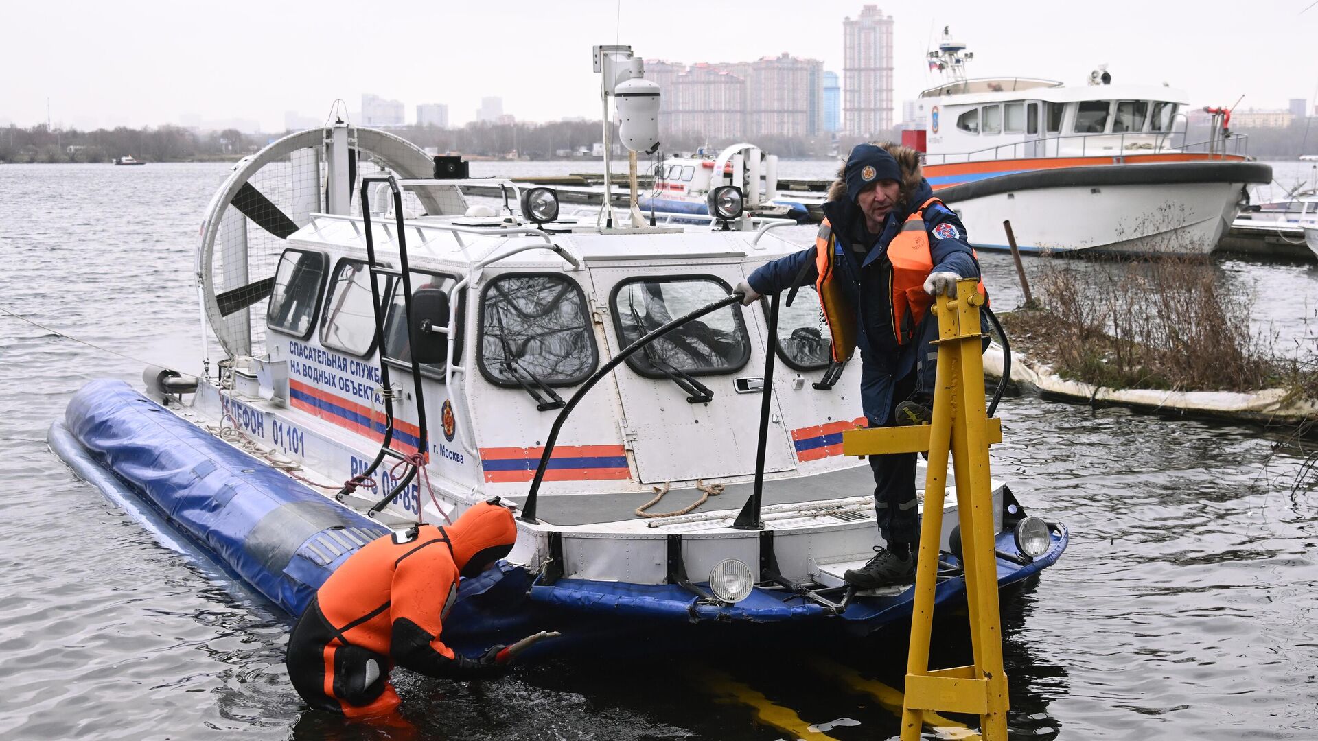
MULTIPOLYGON (((50 431, 51 450, 83 479, 129 512, 145 502, 144 519, 163 545, 199 551, 291 616, 315 589, 373 537, 387 529, 265 461, 223 442, 132 390, 121 381, 92 381, 69 403, 66 421, 50 431), (134 501, 136 500, 136 501, 134 501)), ((1053 525, 1043 555, 1023 558, 1010 529, 996 538, 998 580, 1007 585, 1046 568, 1069 541, 1053 525)), ((956 566, 956 558, 944 555, 956 566)), ((708 589, 708 587, 705 587, 708 589)), ((937 601, 958 597, 965 580, 946 574, 937 601)), ((869 633, 911 614, 912 591, 862 595, 833 614, 780 588, 757 587, 737 604, 702 600, 679 584, 631 584, 559 579, 501 562, 463 581, 455 608, 455 641, 478 649, 490 641, 551 626, 584 638, 600 630, 641 625, 801 624, 826 621, 869 633)), ((837 595, 841 599, 841 593, 837 595)), ((564 641, 563 646, 572 645, 564 641)))

